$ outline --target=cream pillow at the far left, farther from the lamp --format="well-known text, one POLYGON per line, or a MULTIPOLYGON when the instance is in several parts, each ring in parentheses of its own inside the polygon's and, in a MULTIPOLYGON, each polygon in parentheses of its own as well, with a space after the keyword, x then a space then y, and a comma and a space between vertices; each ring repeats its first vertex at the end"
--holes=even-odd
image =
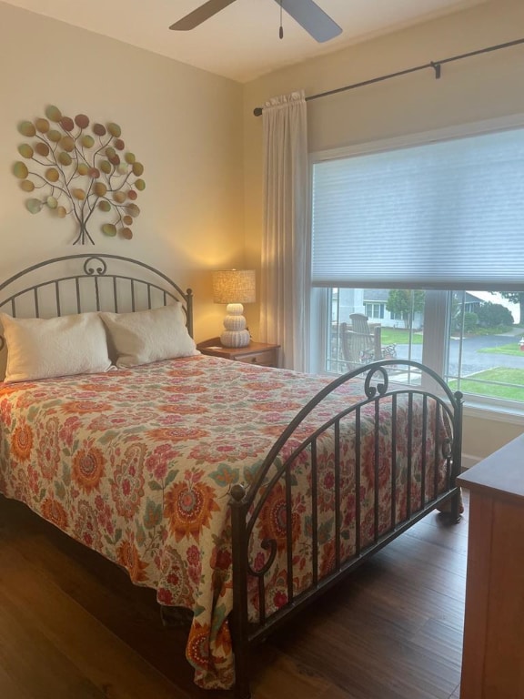
POLYGON ((5 382, 107 371, 106 330, 96 313, 11 318, 0 313, 7 345, 5 382))

